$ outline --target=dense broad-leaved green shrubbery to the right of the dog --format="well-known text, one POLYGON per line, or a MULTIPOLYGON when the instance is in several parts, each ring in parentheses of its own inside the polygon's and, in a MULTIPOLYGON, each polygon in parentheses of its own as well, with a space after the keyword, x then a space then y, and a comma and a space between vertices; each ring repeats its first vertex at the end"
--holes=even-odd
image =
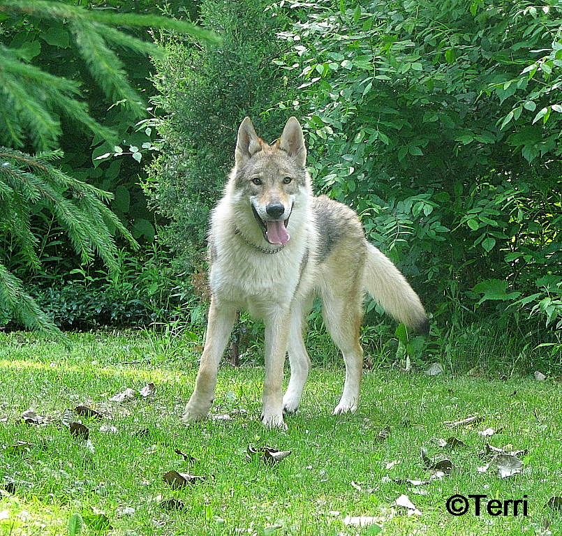
POLYGON ((300 77, 320 191, 357 209, 439 322, 494 315, 500 329, 527 322, 526 334, 542 313, 555 335, 558 3, 293 6, 309 16, 282 35, 293 50, 277 63, 300 77))

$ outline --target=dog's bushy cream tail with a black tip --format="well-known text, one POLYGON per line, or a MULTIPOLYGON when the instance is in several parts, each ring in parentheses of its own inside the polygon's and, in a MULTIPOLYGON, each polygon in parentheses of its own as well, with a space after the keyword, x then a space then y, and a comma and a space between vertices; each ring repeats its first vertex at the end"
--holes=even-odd
POLYGON ((416 332, 429 332, 427 313, 420 297, 392 261, 368 242, 363 288, 393 318, 416 332))

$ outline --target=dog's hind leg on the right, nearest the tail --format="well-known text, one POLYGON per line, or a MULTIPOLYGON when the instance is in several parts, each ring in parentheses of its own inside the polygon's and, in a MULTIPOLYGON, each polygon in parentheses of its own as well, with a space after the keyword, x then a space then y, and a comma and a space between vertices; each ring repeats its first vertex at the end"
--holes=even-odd
POLYGON ((359 343, 362 319, 361 292, 338 292, 330 289, 323 295, 324 322, 332 340, 343 355, 346 364, 346 381, 341 399, 332 412, 355 412, 363 373, 363 349, 359 343))

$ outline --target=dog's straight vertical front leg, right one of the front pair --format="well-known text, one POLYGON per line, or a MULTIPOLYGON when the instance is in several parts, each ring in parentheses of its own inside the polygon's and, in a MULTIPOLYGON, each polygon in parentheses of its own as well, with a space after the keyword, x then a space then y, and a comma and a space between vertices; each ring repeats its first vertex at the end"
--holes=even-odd
POLYGON ((287 429, 283 421, 283 365, 287 352, 289 311, 277 311, 265 321, 265 380, 262 422, 267 428, 287 429))

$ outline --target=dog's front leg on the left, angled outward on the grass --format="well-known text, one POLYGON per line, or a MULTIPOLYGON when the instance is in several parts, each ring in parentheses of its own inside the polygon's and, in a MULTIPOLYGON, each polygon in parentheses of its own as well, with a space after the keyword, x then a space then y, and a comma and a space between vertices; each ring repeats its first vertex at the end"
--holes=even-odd
POLYGON ((204 419, 211 409, 219 363, 232 332, 235 316, 235 307, 230 304, 221 303, 219 305, 216 299, 211 299, 205 348, 201 355, 197 380, 195 380, 195 390, 184 412, 184 422, 204 419))

